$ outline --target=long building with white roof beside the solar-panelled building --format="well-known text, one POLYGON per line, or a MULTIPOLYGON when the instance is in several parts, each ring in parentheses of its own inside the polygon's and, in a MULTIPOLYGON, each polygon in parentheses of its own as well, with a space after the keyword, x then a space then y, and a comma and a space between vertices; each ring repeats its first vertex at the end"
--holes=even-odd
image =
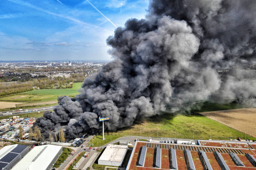
POLYGON ((62 146, 36 146, 12 170, 50 170, 62 153, 62 146))

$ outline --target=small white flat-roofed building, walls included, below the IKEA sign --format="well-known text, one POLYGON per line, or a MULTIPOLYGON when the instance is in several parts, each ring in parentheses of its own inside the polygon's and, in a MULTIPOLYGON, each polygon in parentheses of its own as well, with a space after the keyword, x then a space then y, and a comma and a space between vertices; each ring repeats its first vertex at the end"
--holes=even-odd
POLYGON ((99 165, 122 166, 126 155, 127 145, 108 144, 98 159, 99 165))

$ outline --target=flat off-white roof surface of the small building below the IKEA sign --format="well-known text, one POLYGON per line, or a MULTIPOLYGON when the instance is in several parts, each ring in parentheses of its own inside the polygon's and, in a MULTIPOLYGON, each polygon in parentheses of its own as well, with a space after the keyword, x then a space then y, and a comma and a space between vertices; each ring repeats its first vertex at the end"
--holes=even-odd
POLYGON ((108 144, 99 160, 122 162, 127 148, 128 146, 125 145, 108 144))

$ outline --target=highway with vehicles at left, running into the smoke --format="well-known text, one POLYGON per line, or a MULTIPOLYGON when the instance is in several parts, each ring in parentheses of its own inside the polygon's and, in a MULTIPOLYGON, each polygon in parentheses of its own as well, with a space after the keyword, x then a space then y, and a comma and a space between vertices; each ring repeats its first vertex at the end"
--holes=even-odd
POLYGON ((41 112, 41 111, 47 111, 47 110, 53 110, 55 106, 46 106, 46 107, 35 107, 30 109, 22 109, 22 110, 13 110, 13 111, 2 111, 0 112, 0 116, 6 116, 3 115, 4 113, 7 113, 7 115, 18 115, 23 113, 32 113, 32 112, 41 112))

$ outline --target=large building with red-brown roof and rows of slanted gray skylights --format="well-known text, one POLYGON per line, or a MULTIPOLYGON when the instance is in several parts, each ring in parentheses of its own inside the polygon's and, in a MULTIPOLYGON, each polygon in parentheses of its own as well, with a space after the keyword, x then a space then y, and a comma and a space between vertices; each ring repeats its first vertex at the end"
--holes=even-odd
POLYGON ((256 150, 246 143, 241 146, 239 143, 215 141, 203 143, 213 146, 201 146, 171 141, 136 141, 126 170, 256 169, 256 150))

